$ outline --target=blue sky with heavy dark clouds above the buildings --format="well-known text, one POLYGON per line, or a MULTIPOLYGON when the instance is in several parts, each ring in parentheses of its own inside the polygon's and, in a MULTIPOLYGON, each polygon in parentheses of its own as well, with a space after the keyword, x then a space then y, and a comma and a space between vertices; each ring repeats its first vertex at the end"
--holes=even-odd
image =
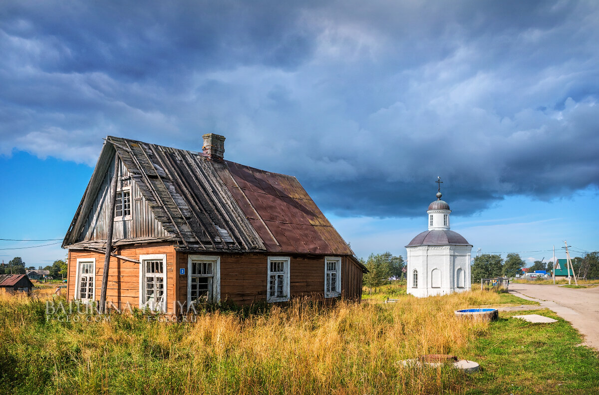
POLYGON ((597 250, 598 26, 585 1, 5 1, 0 239, 62 237, 106 135, 216 132, 360 257, 405 254, 437 176, 473 251, 597 250))

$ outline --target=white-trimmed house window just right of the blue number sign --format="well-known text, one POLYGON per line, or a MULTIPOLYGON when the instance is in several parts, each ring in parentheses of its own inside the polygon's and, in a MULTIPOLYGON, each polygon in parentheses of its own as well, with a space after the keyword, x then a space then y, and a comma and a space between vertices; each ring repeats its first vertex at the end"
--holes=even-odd
POLYGON ((189 255, 187 258, 187 306, 192 306, 195 303, 218 303, 219 299, 220 257, 189 255))

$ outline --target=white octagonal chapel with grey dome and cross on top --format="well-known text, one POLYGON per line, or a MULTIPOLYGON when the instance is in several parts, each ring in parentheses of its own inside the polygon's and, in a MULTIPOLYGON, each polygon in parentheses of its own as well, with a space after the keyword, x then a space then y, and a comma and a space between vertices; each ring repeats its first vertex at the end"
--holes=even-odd
POLYGON ((441 200, 437 177, 437 200, 428 205, 423 231, 406 246, 407 293, 418 297, 471 290, 472 245, 461 234, 449 230, 449 204, 441 200))

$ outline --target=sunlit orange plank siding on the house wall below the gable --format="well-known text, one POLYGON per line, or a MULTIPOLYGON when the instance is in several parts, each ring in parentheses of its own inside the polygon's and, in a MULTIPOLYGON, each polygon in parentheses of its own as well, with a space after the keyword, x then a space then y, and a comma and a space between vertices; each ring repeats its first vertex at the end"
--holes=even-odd
MULTIPOLYGON (((176 253, 172 245, 125 246, 117 254, 123 257, 139 260, 140 255, 145 254, 167 254, 167 306, 168 312, 173 312, 173 303, 176 301, 177 281, 176 278, 176 253)), ((68 255, 68 300, 73 300, 77 275, 77 258, 96 258, 95 290, 96 300, 100 298, 102 287, 102 276, 104 274, 104 254, 98 252, 69 250, 68 255)), ((114 303, 115 306, 138 307, 140 303, 140 264, 125 261, 119 258, 110 258, 108 269, 108 287, 106 301, 114 303), (119 304, 120 303, 120 304, 119 304)), ((110 304, 108 304, 110 306, 110 304)))

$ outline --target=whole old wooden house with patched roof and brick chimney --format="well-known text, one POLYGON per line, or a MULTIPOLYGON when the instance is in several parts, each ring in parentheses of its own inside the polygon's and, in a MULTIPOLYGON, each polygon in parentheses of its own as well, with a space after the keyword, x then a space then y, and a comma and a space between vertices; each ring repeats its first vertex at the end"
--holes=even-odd
POLYGON ((361 298, 365 267, 298 180, 224 160, 224 141, 106 138, 62 245, 69 300, 99 300, 107 243, 105 300, 119 308, 361 298))

